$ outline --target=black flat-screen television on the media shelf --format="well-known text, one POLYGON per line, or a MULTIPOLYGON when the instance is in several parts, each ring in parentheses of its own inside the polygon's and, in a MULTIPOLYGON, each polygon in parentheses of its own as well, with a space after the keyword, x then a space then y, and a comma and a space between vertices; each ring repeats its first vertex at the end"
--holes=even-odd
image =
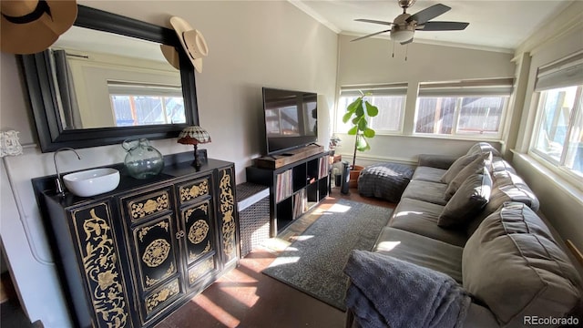
POLYGON ((263 87, 267 154, 284 154, 318 141, 318 95, 263 87))

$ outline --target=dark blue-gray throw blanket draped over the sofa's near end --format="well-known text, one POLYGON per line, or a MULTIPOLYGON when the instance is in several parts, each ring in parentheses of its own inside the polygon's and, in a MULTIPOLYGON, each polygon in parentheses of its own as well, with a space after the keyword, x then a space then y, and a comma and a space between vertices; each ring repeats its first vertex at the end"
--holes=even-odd
POLYGON ((444 273, 371 251, 353 251, 346 307, 363 328, 461 327, 470 297, 444 273))

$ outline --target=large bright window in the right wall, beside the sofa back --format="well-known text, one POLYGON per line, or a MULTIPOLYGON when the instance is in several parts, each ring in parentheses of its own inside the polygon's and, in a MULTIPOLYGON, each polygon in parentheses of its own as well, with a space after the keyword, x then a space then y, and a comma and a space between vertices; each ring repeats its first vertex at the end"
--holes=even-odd
POLYGON ((531 152, 583 178, 583 53, 540 67, 535 91, 537 123, 531 152))

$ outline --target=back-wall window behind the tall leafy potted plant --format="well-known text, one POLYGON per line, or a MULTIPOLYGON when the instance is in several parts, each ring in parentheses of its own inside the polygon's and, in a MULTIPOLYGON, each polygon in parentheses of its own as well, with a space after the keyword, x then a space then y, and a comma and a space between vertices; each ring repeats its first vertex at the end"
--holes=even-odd
POLYGON ((382 86, 341 87, 338 109, 336 112, 336 132, 346 133, 351 124, 343 123, 346 108, 362 94, 370 94, 366 99, 379 108, 379 114, 369 118, 369 125, 377 133, 400 132, 403 127, 404 101, 407 94, 406 84, 382 86))

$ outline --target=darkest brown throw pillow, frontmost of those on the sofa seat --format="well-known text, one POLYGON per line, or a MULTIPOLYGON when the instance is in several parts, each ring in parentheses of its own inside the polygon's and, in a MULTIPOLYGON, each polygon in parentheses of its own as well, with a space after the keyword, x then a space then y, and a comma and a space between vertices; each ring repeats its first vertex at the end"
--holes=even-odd
POLYGON ((459 190, 445 204, 444 210, 437 218, 437 225, 442 228, 453 227, 474 218, 490 199, 492 178, 488 169, 482 168, 465 179, 459 190))

